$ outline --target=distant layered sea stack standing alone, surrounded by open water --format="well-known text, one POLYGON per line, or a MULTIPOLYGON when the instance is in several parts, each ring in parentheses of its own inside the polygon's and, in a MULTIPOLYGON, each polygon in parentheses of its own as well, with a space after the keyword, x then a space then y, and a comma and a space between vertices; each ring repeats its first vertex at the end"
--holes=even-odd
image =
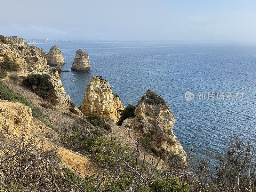
POLYGON ((87 52, 84 52, 83 49, 78 49, 76 51, 76 58, 73 61, 71 70, 77 71, 91 71, 91 64, 89 61, 89 56, 87 52))

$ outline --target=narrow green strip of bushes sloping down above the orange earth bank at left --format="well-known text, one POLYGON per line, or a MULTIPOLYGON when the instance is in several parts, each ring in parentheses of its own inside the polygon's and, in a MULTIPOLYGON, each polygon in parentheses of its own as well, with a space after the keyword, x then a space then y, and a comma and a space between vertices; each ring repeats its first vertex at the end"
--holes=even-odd
POLYGON ((29 108, 31 108, 32 115, 36 119, 43 122, 46 126, 52 128, 54 131, 57 131, 54 126, 47 123, 42 116, 40 116, 35 110, 33 110, 31 104, 24 97, 22 97, 19 93, 12 91, 12 89, 10 89, 6 85, 4 85, 1 80, 0 80, 0 99, 9 100, 12 102, 19 102, 19 103, 23 103, 23 104, 27 105, 29 108))

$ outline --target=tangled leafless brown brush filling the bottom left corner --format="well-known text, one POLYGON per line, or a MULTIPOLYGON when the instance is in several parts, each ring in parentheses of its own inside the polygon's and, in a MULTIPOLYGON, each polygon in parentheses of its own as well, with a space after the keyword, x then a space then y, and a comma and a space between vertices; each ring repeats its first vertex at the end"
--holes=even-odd
POLYGON ((0 141, 1 191, 82 190, 67 179, 58 147, 40 144, 36 136, 24 132, 13 135, 1 131, 0 141))

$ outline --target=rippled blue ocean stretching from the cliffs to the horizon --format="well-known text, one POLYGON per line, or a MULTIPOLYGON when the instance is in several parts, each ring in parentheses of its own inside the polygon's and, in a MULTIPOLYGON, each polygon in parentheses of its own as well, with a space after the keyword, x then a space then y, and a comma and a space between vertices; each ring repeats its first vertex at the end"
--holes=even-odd
MULTIPOLYGON (((30 44, 31 45, 31 44, 30 44)), ((256 143, 256 45, 177 45, 171 43, 36 44, 48 52, 57 45, 70 70, 76 50, 88 52, 91 72, 60 73, 76 106, 82 104, 86 84, 102 75, 123 105, 136 105, 147 89, 161 95, 175 115, 174 134, 186 149, 197 131, 195 147, 219 152, 228 135, 256 143), (76 74, 76 76, 73 76, 76 74), (78 81, 69 78, 76 77, 78 81), (185 100, 185 92, 195 99, 185 100), (244 92, 243 100, 207 100, 208 92, 244 92), (196 100, 206 92, 205 100, 196 100)), ((225 98, 226 99, 226 98, 225 98)))

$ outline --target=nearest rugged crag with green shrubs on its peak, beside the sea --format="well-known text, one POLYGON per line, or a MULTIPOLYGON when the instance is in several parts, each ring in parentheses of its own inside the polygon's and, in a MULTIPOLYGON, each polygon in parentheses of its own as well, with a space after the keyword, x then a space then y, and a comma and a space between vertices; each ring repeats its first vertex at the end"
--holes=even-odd
POLYGON ((169 145, 167 152, 182 156, 184 162, 186 161, 186 153, 172 131, 174 115, 160 96, 148 90, 138 101, 134 114, 135 117, 125 119, 122 126, 142 135, 152 135, 154 148, 163 151, 169 145), (138 126, 140 129, 137 129, 138 126))

